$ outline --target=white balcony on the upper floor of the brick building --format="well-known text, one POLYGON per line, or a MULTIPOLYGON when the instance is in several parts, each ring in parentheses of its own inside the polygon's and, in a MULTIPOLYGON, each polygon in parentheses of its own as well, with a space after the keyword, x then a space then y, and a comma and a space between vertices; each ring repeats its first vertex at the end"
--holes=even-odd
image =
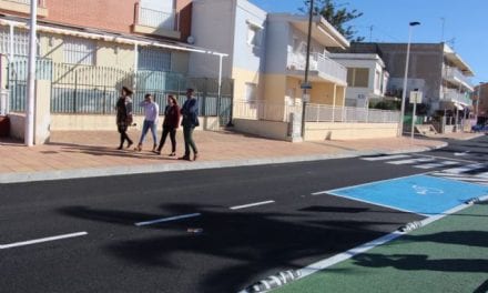
POLYGON ((180 39, 179 18, 173 11, 159 11, 135 3, 133 32, 180 39))

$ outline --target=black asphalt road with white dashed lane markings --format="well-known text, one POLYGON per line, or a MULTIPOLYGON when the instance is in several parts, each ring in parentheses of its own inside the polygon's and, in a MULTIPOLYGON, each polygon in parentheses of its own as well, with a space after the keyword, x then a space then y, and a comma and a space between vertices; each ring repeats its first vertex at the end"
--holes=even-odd
MULTIPOLYGON (((486 159, 485 145, 421 155, 486 159)), ((424 172, 356 158, 2 184, 1 245, 88 234, 4 246, 0 291, 236 292, 423 218, 312 193, 424 172), (136 225, 177 215, 189 218, 136 225)))

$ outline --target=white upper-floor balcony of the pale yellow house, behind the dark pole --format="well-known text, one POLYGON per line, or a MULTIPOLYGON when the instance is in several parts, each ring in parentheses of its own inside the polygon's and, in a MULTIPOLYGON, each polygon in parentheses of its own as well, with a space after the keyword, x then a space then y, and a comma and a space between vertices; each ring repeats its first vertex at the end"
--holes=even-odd
MULTIPOLYGON (((287 69, 291 74, 303 75, 302 72, 305 71, 306 57, 301 53, 288 53, 287 69)), ((309 63, 311 78, 314 75, 322 80, 327 80, 336 82, 339 84, 347 83, 347 69, 342 64, 335 62, 328 57, 321 53, 311 53, 309 63)))

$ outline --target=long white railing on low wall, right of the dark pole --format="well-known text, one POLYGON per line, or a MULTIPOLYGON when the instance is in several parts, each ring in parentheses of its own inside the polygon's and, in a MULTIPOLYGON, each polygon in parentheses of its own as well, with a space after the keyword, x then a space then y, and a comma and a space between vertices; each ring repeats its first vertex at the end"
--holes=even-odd
POLYGON ((305 111, 307 122, 398 123, 399 119, 399 111, 328 104, 307 104, 305 111))

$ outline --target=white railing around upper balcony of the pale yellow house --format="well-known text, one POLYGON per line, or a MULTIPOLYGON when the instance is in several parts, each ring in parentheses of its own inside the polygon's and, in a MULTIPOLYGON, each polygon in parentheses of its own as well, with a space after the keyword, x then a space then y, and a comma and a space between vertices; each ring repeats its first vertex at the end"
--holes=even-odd
MULTIPOLYGON (((305 70, 306 57, 299 53, 288 53, 288 68, 292 70, 305 70)), ((346 82, 347 69, 336 61, 321 53, 311 53, 309 70, 318 71, 346 82)))

